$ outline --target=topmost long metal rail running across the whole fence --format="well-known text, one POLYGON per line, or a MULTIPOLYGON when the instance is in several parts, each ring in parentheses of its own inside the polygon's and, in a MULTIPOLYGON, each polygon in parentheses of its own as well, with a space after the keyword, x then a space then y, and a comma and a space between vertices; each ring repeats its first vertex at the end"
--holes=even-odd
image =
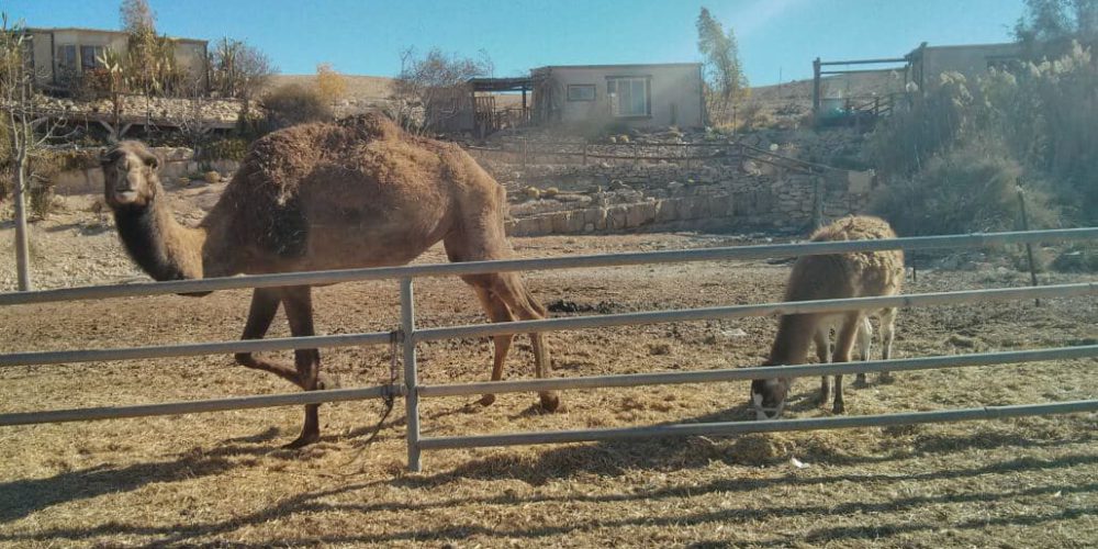
POLYGON ((1098 227, 1007 233, 977 233, 971 235, 917 236, 874 240, 768 244, 758 246, 735 246, 635 254, 601 254, 590 256, 415 265, 405 267, 302 271, 200 280, 176 280, 169 282, 64 288, 36 292, 0 293, 0 305, 122 298, 133 295, 209 292, 244 288, 320 285, 360 280, 389 280, 405 277, 451 277, 523 270, 582 269, 592 267, 621 267, 629 265, 716 261, 729 259, 765 259, 771 257, 847 254, 885 249, 917 250, 931 248, 978 248, 1005 244, 1053 243, 1088 238, 1098 238, 1098 227))

